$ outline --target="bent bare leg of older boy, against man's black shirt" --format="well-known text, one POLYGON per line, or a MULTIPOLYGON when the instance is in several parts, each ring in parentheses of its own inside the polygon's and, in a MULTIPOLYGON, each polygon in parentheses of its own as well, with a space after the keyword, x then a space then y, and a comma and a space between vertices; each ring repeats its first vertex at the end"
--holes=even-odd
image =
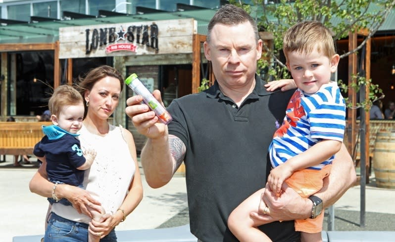
POLYGON ((258 206, 264 191, 265 189, 262 188, 249 196, 232 211, 228 218, 228 227, 230 231, 242 242, 271 242, 270 238, 257 228, 259 225, 262 225, 262 222, 254 220, 249 216, 250 212, 258 211, 258 206))

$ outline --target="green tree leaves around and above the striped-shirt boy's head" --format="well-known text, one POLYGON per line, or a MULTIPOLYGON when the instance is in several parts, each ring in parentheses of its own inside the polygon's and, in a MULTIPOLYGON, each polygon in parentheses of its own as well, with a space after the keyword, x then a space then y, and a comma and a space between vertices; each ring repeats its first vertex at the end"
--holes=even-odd
MULTIPOLYGON (((349 32, 368 29, 369 35, 355 50, 339 53, 340 57, 344 58, 358 51, 366 40, 374 35, 395 5, 395 0, 280 0, 276 4, 267 3, 270 1, 266 1, 265 4, 265 0, 250 2, 253 3, 252 6, 244 4, 242 0, 230 0, 230 3, 245 8, 251 16, 256 16, 260 31, 273 33, 274 48, 263 46, 263 52, 266 52, 271 61, 258 62, 257 71, 261 76, 265 74, 266 81, 290 78, 285 64, 280 61, 280 54, 283 34, 294 24, 305 20, 319 21, 332 30, 334 41, 346 38, 349 32)), ((370 83, 370 80, 360 77, 357 80, 364 84, 370 83)), ((346 85, 344 87, 346 91, 348 87, 346 85)), ((382 92, 377 85, 371 84, 370 87, 369 96, 373 99, 359 104, 364 108, 370 108, 372 101, 382 98, 382 92)))

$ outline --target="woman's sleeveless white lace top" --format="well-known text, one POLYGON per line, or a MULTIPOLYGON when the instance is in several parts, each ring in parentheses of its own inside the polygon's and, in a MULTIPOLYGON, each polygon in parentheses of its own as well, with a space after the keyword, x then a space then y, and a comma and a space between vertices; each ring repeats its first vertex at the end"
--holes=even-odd
MULTIPOLYGON (((114 213, 128 192, 136 167, 129 147, 122 136, 122 126, 110 125, 105 136, 90 133, 83 125, 79 139, 83 150, 94 149, 95 161, 84 173, 84 187, 101 202, 106 213, 114 213)), ((72 206, 53 203, 57 215, 77 222, 89 223, 91 218, 79 214, 72 206)))

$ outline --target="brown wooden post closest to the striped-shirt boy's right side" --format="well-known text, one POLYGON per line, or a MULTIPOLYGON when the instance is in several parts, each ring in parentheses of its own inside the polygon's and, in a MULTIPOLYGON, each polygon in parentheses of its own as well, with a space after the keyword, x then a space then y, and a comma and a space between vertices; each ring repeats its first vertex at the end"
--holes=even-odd
MULTIPOLYGON (((351 51, 357 47, 357 34, 348 34, 348 50, 351 51)), ((353 53, 348 56, 348 101, 351 102, 352 106, 356 105, 356 91, 352 87, 352 83, 356 83, 356 80, 352 78, 356 75, 356 65, 357 65, 357 54, 353 53)), ((353 146, 356 139, 356 109, 348 109, 347 112, 347 150, 349 154, 352 154, 353 146)))

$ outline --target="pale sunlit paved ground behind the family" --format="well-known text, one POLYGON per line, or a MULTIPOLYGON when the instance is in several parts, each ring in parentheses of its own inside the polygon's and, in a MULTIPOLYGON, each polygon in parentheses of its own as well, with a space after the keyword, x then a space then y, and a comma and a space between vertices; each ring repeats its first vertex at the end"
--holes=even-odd
MULTIPOLYGON (((28 183, 37 162, 14 167, 12 157, 0 163, 0 241, 12 242, 14 236, 44 233, 48 202, 32 194, 28 183)), ((31 159, 35 161, 34 158, 31 159)), ((117 230, 154 229, 189 223, 185 178, 178 176, 159 189, 151 189, 142 176, 144 199, 117 230)), ((335 230, 395 231, 395 189, 377 188, 374 177, 366 186, 365 227, 360 226, 360 187, 350 188, 335 204, 335 230)), ((324 230, 328 230, 324 221, 324 230)))

